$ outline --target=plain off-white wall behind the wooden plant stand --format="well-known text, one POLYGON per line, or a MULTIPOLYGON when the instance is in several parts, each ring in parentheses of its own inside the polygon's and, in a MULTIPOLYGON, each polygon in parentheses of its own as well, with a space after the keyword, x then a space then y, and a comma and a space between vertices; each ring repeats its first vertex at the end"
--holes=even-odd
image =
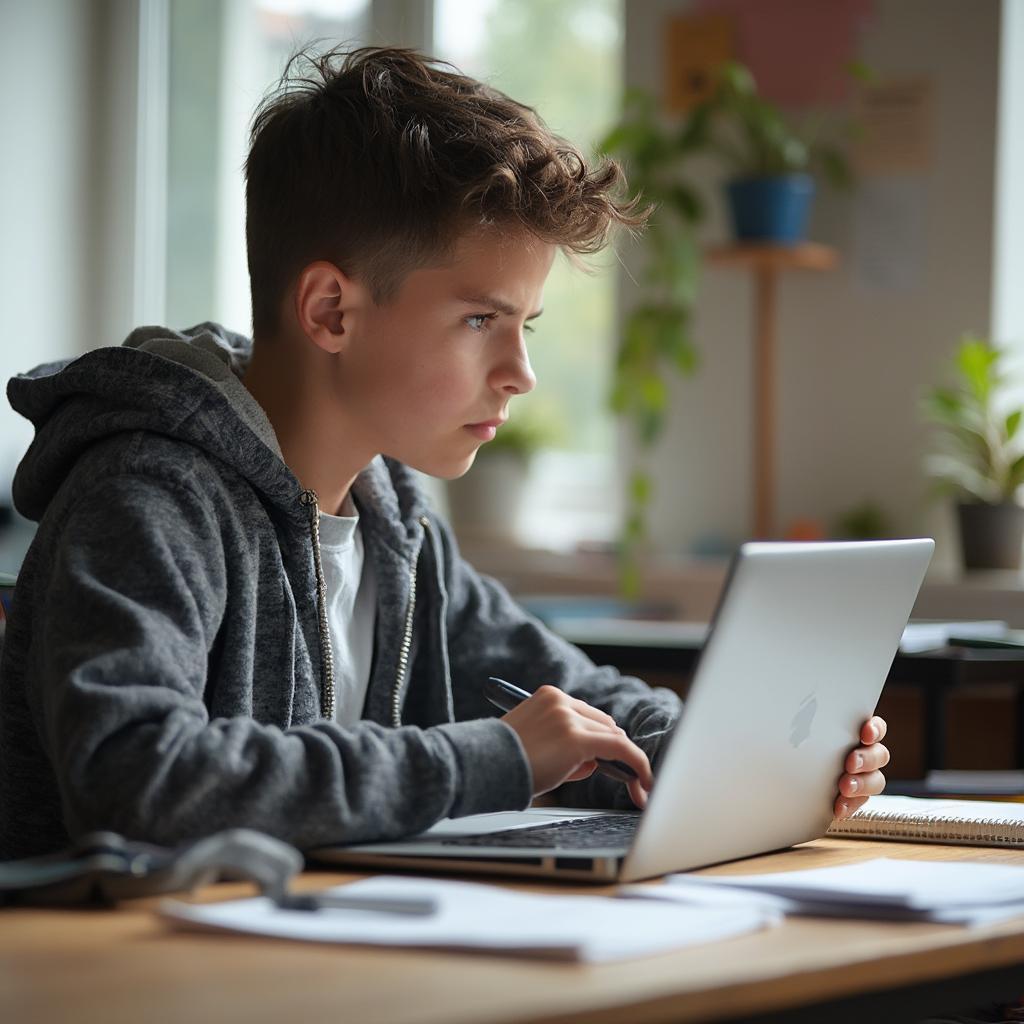
MULTIPOLYGON (((628 4, 631 84, 658 87, 663 17, 685 6, 628 4)), ((810 516, 830 524, 870 499, 896 530, 937 532, 938 561, 949 562, 956 552, 947 515, 927 502, 920 470, 925 431, 916 401, 959 333, 989 328, 998 0, 876 0, 860 56, 882 78, 925 75, 933 83, 927 250, 920 287, 865 288, 850 262, 855 202, 819 204, 812 237, 837 246, 845 265, 787 275, 780 288, 776 521, 784 527, 810 516)), ((709 239, 725 236, 713 219, 709 239)), ((703 366, 674 387, 655 460, 652 535, 675 550, 708 532, 739 540, 751 527, 752 304, 742 274, 705 271, 703 366)))

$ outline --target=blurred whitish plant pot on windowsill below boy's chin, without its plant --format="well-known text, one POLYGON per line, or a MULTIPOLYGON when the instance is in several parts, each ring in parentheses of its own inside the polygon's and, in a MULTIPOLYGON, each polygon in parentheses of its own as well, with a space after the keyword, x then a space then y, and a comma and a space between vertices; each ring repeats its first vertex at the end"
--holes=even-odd
POLYGON ((478 456, 468 473, 449 480, 456 536, 466 541, 515 541, 528 473, 525 459, 495 452, 478 456))

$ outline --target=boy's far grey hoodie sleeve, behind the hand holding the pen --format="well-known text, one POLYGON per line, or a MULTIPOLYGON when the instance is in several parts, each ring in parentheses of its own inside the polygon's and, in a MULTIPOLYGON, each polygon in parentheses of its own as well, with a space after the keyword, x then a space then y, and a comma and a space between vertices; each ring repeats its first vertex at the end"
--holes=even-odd
MULTIPOLYGON (((495 716, 481 683, 500 676, 526 690, 545 683, 610 715, 657 771, 665 740, 682 712, 672 690, 651 687, 610 667, 598 668, 578 647, 527 614, 495 580, 459 553, 451 528, 434 520, 447 587, 449 656, 458 720, 495 716)), ((559 791, 571 806, 633 808, 626 787, 595 773, 559 791)))

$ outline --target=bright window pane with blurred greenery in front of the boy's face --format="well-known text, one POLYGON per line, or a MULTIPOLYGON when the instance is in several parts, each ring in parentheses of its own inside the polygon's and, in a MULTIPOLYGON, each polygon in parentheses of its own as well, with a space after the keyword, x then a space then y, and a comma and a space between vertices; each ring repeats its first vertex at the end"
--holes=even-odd
MULTIPOLYGON (((621 0, 434 0, 436 56, 534 106, 590 155, 618 113, 625 10, 621 0)), ((535 467, 523 540, 571 547, 616 530, 614 424, 606 394, 615 349, 614 258, 594 275, 559 257, 529 351, 538 387, 513 416, 558 432, 535 467)))

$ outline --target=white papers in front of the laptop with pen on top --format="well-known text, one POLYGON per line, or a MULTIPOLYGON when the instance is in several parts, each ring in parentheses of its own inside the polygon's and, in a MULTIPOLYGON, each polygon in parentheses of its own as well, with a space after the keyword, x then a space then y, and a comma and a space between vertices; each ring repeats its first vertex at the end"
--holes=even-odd
POLYGON ((380 900, 427 898, 437 909, 420 915, 351 908, 283 910, 270 899, 258 897, 206 904, 165 901, 160 912, 181 928, 306 942, 481 950, 591 964, 714 942, 781 921, 773 907, 750 902, 680 907, 388 876, 328 892, 380 900))

